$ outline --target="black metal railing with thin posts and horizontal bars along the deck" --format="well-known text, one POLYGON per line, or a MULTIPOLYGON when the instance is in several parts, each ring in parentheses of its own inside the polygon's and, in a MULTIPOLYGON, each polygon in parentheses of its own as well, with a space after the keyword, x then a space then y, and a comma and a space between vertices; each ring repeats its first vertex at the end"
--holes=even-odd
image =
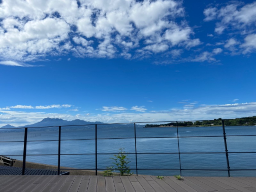
MULTIPOLYGON (((172 121, 173 122, 173 121, 172 121)), ((141 124, 141 123, 158 123, 158 122, 138 122, 138 123, 129 123, 129 124, 134 124, 134 137, 125 137, 125 138, 103 138, 103 139, 134 139, 134 144, 135 144, 135 153, 126 153, 126 154, 134 154, 135 155, 135 163, 136 163, 136 175, 138 175, 138 170, 163 170, 163 171, 180 171, 180 176, 182 175, 182 171, 227 171, 228 172, 228 177, 230 177, 230 171, 255 171, 256 169, 230 169, 229 166, 229 159, 228 159, 228 154, 229 153, 256 153, 256 152, 228 152, 228 146, 227 146, 227 135, 225 131, 225 120, 221 120, 222 123, 222 131, 223 131, 223 136, 185 136, 185 137, 180 137, 179 136, 179 129, 178 129, 178 121, 176 121, 176 130, 177 130, 177 137, 136 137, 136 124, 141 124), (223 137, 224 139, 224 147, 225 147, 225 152, 180 152, 180 142, 179 138, 192 138, 192 137, 223 137), (177 144, 178 144, 178 153, 138 153, 137 152, 137 139, 140 138, 177 138, 177 144), (226 155, 226 161, 227 161, 227 169, 182 169, 181 167, 181 157, 180 154, 224 154, 226 155), (138 154, 178 154, 179 155, 179 165, 180 169, 140 169, 138 168, 138 159, 137 155, 138 154)), ((128 124, 128 123, 123 123, 123 124, 128 124)), ((98 167, 98 155, 109 155, 109 154, 116 154, 116 153, 98 153, 98 146, 97 146, 97 140, 99 140, 97 136, 97 130, 98 127, 97 125, 106 125, 106 124, 93 124, 95 126, 95 139, 79 139, 79 140, 95 140, 95 154, 61 154, 61 127, 65 126, 58 126, 58 131, 59 131, 59 137, 58 137, 58 175, 60 175, 60 159, 61 155, 95 155, 95 169, 70 169, 70 170, 95 170, 95 175, 98 174, 98 170, 103 170, 98 167)), ((109 125, 109 124, 108 124, 109 125)), ((70 125, 69 125, 70 126, 70 125)), ((72 125, 73 126, 73 125, 72 125)), ((82 126, 82 125, 74 125, 74 126, 82 126)), ((56 126, 52 126, 56 127, 56 126)), ((40 127, 43 128, 43 127, 40 127)), ((12 128, 11 128, 12 129, 12 128)), ((15 128, 17 129, 17 128, 15 128)), ((24 129, 24 140, 23 141, 0 141, 1 142, 24 142, 23 146, 23 164, 22 164, 22 175, 25 175, 25 170, 26 170, 26 156, 40 156, 40 155, 27 155, 27 142, 28 142, 28 127, 23 128, 24 129)), ((228 135, 228 136, 256 136, 256 135, 228 135)), ((102 138, 100 138, 102 139, 102 138)), ((69 139, 69 140, 74 140, 74 139, 69 139)), ((40 140, 40 141, 55 141, 55 140, 40 140)), ((31 141, 29 141, 31 142, 31 141)), ((56 155, 56 154, 45 154, 45 155, 56 155)), ((8 156, 8 155, 4 155, 8 156)), ((9 155, 9 156, 18 156, 18 155, 9 155)), ((21 156, 21 155, 19 155, 21 156)), ((43 155, 42 155, 43 156, 43 155)), ((67 169, 65 169, 67 170, 67 169)))

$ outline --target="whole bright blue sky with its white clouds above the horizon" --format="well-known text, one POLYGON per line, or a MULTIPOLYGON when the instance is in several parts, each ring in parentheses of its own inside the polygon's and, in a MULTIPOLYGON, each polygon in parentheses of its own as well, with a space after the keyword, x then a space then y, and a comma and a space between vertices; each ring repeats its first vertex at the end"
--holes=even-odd
POLYGON ((0 2, 0 126, 256 115, 256 1, 0 2))

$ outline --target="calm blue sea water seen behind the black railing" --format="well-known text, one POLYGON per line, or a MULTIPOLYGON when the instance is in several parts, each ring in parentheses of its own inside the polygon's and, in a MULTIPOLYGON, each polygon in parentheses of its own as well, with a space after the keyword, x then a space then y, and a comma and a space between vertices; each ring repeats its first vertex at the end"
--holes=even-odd
MULTIPOLYGON (((23 130, 24 131, 24 130, 23 130)), ((1 131, 0 141, 22 141, 24 132, 1 131)), ((138 154, 138 169, 227 169, 225 145, 222 127, 179 127, 180 159, 176 127, 137 128, 137 153, 172 153, 138 154), (216 137, 187 137, 216 136, 216 137), (220 136, 220 137, 218 137, 220 136), (151 138, 147 138, 151 137, 151 138), (168 137, 168 138, 157 138, 168 137), (202 154, 211 152, 211 154, 202 154), (190 154, 185 154, 190 153, 190 154)), ((256 126, 226 127, 230 169, 256 169, 256 126), (242 153, 236 153, 242 152, 242 153)), ((126 153, 135 153, 133 125, 110 127, 98 125, 97 128, 98 169, 113 165, 113 154, 119 148, 126 153), (126 139, 120 139, 126 137, 126 139), (107 139, 115 138, 115 139, 107 139)), ((61 166, 77 169, 95 169, 95 127, 86 126, 62 128, 61 131, 61 166), (76 140, 73 140, 76 139, 76 140), (88 140, 83 140, 88 139, 88 140), (83 155, 78 155, 83 154, 83 155)), ((57 165, 58 156, 57 129, 28 129, 27 161, 57 165), (51 141, 44 141, 51 140, 51 141), (35 155, 41 156, 35 156, 35 155)), ((22 160, 23 142, 1 142, 0 155, 22 160)), ((135 155, 129 154, 130 168, 135 173, 135 155)), ((138 174, 176 175, 180 171, 139 170, 138 174)), ((227 171, 182 171, 183 176, 228 176, 227 171)), ((231 176, 256 176, 256 171, 231 171, 231 176)))

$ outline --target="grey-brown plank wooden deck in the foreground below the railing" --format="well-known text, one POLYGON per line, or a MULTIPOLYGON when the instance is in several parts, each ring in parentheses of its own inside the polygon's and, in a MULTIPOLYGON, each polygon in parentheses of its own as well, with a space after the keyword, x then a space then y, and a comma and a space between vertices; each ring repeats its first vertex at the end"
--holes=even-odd
POLYGON ((256 192, 256 177, 0 175, 2 192, 256 192))

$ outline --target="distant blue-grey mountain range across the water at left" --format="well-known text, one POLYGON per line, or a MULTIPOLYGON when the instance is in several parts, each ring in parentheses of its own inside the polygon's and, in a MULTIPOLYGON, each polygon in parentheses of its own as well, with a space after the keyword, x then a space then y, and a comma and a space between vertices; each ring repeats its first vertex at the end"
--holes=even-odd
MULTIPOLYGON (((30 124, 30 125, 24 125, 24 126, 19 126, 19 127, 48 127, 48 126, 64 126, 64 125, 88 125, 88 124, 104 124, 100 121, 96 121, 96 122, 89 122, 89 121, 83 121, 83 120, 73 120, 73 121, 66 121, 63 119, 54 119, 54 118, 45 118, 40 122, 37 122, 35 124, 30 124)), ((3 127, 1 127, 1 129, 8 129, 8 128, 18 128, 15 126, 12 126, 10 124, 8 125, 4 125, 3 127)))

